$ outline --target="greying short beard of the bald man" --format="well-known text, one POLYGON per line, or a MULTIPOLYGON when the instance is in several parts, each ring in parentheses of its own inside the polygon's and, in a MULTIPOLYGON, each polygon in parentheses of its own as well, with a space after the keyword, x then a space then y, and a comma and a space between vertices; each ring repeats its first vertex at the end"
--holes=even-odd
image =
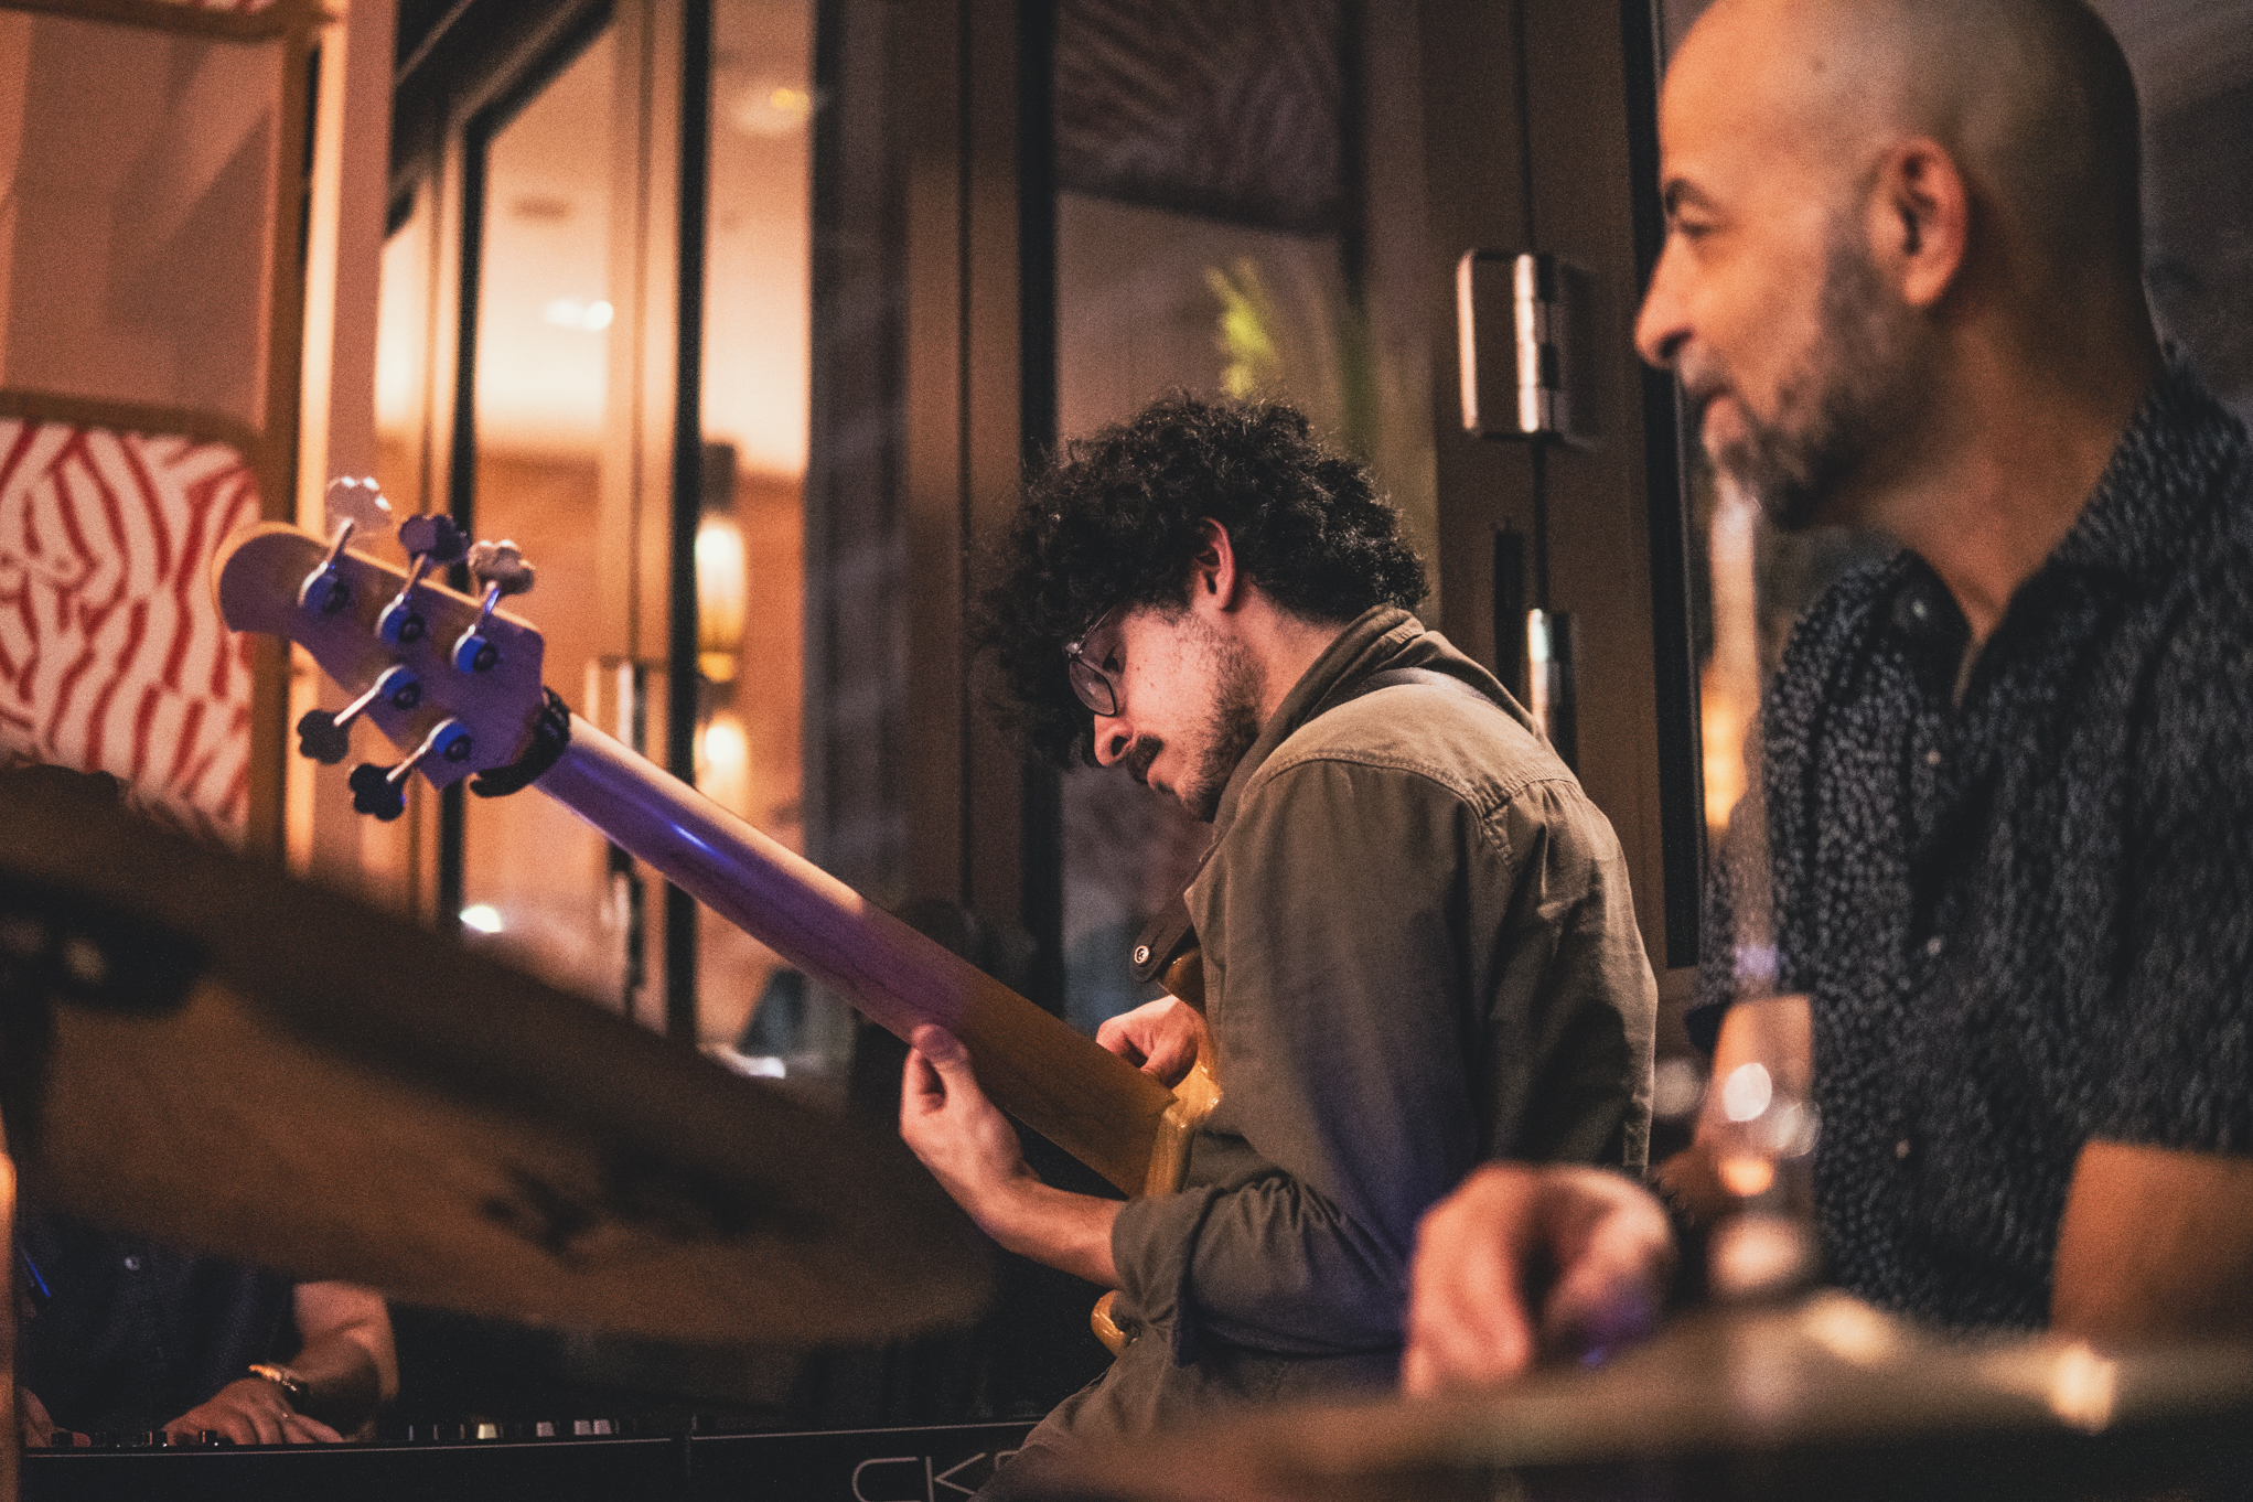
POLYGON ((1908 432, 1915 399, 1904 336, 1868 252, 1838 225, 1823 268, 1820 333, 1778 392, 1775 419, 1744 410, 1744 435, 1710 455, 1778 529, 1843 520, 1832 507, 1838 491, 1908 432))

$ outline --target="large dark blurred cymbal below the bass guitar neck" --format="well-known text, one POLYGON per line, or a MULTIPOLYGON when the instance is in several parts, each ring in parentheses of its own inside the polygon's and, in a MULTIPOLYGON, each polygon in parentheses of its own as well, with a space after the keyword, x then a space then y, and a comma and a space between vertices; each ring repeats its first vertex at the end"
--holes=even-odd
POLYGON ((99 795, 0 777, 0 1106, 43 1207, 529 1324, 971 1320, 899 1142, 99 795))

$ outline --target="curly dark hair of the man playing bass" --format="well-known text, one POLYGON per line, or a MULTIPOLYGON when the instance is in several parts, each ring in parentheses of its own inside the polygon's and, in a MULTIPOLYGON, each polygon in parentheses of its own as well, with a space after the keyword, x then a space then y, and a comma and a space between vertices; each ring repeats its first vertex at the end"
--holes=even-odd
POLYGON ((1291 615, 1343 624, 1424 599, 1399 511, 1295 408, 1163 396, 1066 444, 1027 482, 989 565, 978 644, 1000 669, 998 709, 1057 766, 1095 759, 1063 644, 1113 606, 1187 606, 1205 518, 1291 615))

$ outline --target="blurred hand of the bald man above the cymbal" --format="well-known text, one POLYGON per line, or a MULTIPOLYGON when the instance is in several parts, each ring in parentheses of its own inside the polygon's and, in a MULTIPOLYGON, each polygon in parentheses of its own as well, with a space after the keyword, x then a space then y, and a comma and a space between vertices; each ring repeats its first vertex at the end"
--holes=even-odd
POLYGON ((1424 1214, 1408 1275, 1410 1394, 1500 1383, 1541 1358, 1600 1360, 1658 1326, 1674 1232, 1602 1169, 1496 1162, 1424 1214))

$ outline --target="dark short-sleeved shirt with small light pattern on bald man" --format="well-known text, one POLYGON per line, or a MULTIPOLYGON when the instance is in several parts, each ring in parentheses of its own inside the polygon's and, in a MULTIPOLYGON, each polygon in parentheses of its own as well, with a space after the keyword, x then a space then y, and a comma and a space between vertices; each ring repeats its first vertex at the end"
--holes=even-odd
POLYGON ((2183 367, 2012 597, 1847 574, 1766 707, 1780 989, 1816 1020, 1832 1277, 2048 1320, 2091 1137, 2253 1151, 2253 462, 2183 367))

